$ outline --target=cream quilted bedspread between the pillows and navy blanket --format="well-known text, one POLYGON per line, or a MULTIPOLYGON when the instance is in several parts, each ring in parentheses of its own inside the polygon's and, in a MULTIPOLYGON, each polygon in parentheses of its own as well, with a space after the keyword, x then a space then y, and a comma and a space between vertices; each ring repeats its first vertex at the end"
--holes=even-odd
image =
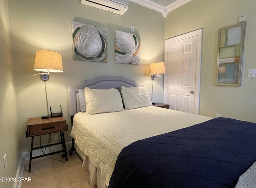
POLYGON ((94 115, 80 112, 74 116, 71 136, 101 169, 108 186, 117 156, 128 144, 210 119, 153 106, 94 115))

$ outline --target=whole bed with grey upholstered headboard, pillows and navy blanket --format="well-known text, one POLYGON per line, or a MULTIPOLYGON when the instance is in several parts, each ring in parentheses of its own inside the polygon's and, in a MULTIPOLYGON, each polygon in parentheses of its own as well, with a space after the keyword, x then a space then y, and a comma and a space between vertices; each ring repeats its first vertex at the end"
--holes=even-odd
POLYGON ((254 163, 256 161, 256 125, 254 123, 225 118, 212 119, 154 107, 143 85, 122 76, 99 76, 68 87, 68 100, 72 117, 71 136, 74 139, 76 151, 84 160, 83 166, 90 173, 92 187, 164 188, 188 187, 188 185, 190 187, 216 187, 216 185, 217 187, 246 187, 245 184, 252 187, 256 185, 256 164, 254 163), (84 93, 86 93, 86 103, 84 93), (218 129, 212 127, 216 124, 219 125, 218 129), (238 124, 242 126, 237 130, 238 124), (220 140, 216 140, 216 134, 210 134, 210 139, 205 138, 207 134, 202 135, 202 132, 209 133, 213 129, 217 131, 220 140), (232 130, 232 135, 226 134, 224 130, 227 129, 232 130), (243 134, 246 134, 246 139, 243 134), (240 137, 236 138, 237 135, 240 137), (222 142, 227 138, 230 140, 230 137, 232 143, 228 147, 226 143, 225 147, 228 148, 228 152, 231 152, 231 157, 222 156, 226 149, 222 148, 222 142), (212 143, 198 144, 196 142, 198 139, 202 139, 201 143, 207 143, 212 139, 219 144, 217 147, 221 150, 212 149, 217 148, 212 146, 212 143), (242 143, 239 142, 240 140, 242 143), (180 142, 185 143, 186 147, 192 146, 192 153, 184 156, 184 152, 188 153, 191 148, 184 150, 185 146, 182 146, 181 149, 180 142), (239 151, 236 150, 234 142, 241 144, 239 151), (162 146, 158 147, 159 145, 162 146), (207 159, 202 156, 204 153, 201 151, 202 148, 195 147, 198 145, 203 145, 208 150, 211 148, 211 155, 207 156, 207 159), (235 151, 230 151, 230 147, 235 151), (165 148, 170 149, 165 150, 165 148), (159 152, 160 150, 162 152, 159 152), (169 158, 170 151, 174 158, 169 158), (214 152, 219 155, 215 156, 214 152), (237 157, 237 153, 243 153, 243 156, 237 157), (142 157, 138 158, 138 156, 142 157), (168 157, 162 158, 162 156, 168 157), (188 160, 191 156, 192 162, 188 160), (197 160, 194 160, 195 157, 197 160), (182 158, 185 158, 184 161, 189 161, 188 164, 182 161, 182 158), (230 158, 231 161, 226 161, 230 158), (227 166, 226 163, 222 165, 220 161, 234 163, 234 165, 227 166), (173 167, 173 163, 178 167, 173 167), (188 166, 189 169, 187 169, 188 166), (215 166, 218 168, 215 169, 215 166))

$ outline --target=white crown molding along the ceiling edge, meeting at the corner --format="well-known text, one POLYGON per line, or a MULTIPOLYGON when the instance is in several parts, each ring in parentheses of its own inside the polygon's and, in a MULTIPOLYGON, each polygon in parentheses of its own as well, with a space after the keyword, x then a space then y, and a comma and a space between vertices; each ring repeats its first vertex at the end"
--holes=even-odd
POLYGON ((152 2, 150 0, 130 0, 134 3, 140 4, 142 6, 145 6, 147 8, 150 8, 152 10, 156 10, 158 12, 161 12, 164 15, 164 18, 167 16, 168 12, 171 12, 172 10, 179 8, 180 6, 186 4, 187 2, 190 2, 192 0, 176 0, 173 3, 169 4, 168 6, 163 6, 158 3, 152 2))

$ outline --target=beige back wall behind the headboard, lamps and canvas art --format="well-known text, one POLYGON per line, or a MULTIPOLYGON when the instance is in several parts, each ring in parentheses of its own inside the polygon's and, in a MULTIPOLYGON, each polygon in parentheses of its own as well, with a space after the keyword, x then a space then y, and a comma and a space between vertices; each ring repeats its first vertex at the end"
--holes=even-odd
MULTIPOLYGON (((146 85, 151 95, 152 80, 149 64, 164 60, 164 16, 149 8, 129 2, 128 11, 120 16, 107 11, 80 4, 80 0, 8 0, 10 29, 12 36, 14 73, 18 103, 19 139, 22 152, 30 148, 30 138, 25 137, 26 123, 30 117, 46 115, 44 82, 33 76, 36 50, 48 49, 62 54, 63 73, 51 73, 46 82, 48 103, 55 112, 62 105, 64 117, 68 119, 67 87, 77 85, 83 79, 98 75, 122 75, 146 85), (72 20, 101 26, 108 31, 108 62, 75 61, 72 59, 72 20), (141 65, 114 63, 115 30, 135 33, 141 37, 141 65)), ((163 79, 154 83, 154 99, 162 102, 163 79)), ((49 135, 42 136, 43 142, 49 135)), ((58 138, 57 134, 52 135, 58 138)), ((35 138, 39 144, 39 137, 35 138)))

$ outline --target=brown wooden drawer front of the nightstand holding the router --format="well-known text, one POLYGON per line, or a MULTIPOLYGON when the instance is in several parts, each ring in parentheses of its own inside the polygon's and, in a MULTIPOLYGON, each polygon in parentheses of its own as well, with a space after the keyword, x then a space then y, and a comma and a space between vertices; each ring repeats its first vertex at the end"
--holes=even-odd
POLYGON ((41 125, 29 126, 29 135, 44 135, 49 133, 56 133, 60 131, 66 131, 66 122, 55 122, 41 125))

